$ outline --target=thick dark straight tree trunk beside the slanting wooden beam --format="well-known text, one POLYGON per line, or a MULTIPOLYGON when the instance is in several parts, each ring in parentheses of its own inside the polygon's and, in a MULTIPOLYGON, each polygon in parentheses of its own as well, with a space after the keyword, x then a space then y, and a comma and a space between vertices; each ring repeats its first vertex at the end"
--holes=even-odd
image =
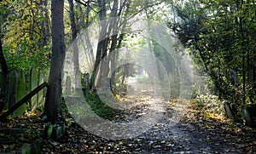
POLYGON ((62 117, 61 73, 65 58, 63 6, 64 0, 51 1, 52 59, 49 71, 49 87, 44 106, 50 123, 55 123, 62 117))

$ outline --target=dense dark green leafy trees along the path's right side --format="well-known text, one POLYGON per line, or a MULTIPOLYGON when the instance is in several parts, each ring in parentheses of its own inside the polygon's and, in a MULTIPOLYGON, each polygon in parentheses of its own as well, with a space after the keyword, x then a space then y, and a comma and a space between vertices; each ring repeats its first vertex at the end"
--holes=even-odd
POLYGON ((170 28, 190 48, 196 68, 211 77, 215 94, 240 106, 245 88, 247 100, 253 101, 255 3, 195 0, 173 6, 176 18, 170 28), (236 83, 231 71, 236 71, 236 83))

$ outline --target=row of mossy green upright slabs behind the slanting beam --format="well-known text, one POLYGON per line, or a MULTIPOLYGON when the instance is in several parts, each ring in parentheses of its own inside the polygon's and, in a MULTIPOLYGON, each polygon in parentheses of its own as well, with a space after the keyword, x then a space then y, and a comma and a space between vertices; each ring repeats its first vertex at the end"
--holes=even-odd
MULTIPOLYGON (((0 96, 4 96, 5 100, 1 101, 3 110, 9 110, 16 106, 22 98, 31 93, 34 88, 40 84, 47 82, 48 71, 31 67, 28 71, 20 69, 11 70, 6 78, 0 72, 0 96)), ((45 89, 34 94, 26 104, 22 104, 12 113, 12 117, 22 116, 28 109, 35 111, 38 106, 44 103, 45 89)), ((0 100, 3 98, 0 98, 0 100)))

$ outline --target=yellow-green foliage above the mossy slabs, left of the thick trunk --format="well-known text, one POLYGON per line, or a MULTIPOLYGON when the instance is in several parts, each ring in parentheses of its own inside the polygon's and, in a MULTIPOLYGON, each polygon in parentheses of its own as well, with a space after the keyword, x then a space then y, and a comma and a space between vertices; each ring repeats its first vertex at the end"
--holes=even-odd
POLYGON ((9 68, 49 66, 50 47, 47 14, 43 4, 4 1, 3 52, 9 68))

